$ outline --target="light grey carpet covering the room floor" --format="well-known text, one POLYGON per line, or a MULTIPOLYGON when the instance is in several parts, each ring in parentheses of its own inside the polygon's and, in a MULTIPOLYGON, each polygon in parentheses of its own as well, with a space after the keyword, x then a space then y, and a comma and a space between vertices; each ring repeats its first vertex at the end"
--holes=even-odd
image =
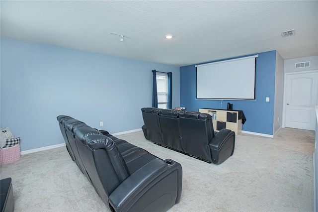
MULTIPOLYGON (((314 211, 314 131, 283 128, 274 138, 242 133, 234 155, 220 165, 158 146, 142 131, 116 137, 181 164, 181 200, 169 212, 314 211)), ((0 178, 6 177, 15 212, 109 211, 65 147, 1 165, 0 178)))

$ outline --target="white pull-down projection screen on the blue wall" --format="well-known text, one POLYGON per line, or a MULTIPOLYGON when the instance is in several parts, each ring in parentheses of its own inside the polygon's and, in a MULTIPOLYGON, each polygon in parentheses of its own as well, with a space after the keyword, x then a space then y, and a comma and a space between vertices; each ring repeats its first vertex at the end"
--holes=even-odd
POLYGON ((197 99, 255 100, 256 57, 197 65, 197 99))

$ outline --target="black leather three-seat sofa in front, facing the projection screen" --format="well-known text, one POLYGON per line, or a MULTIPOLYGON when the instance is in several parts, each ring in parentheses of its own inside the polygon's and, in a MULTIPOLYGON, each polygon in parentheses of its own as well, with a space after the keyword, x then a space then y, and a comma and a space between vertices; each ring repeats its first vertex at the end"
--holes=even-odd
POLYGON ((145 138, 206 162, 221 164, 235 147, 235 132, 214 132, 210 114, 174 109, 141 109, 145 138))

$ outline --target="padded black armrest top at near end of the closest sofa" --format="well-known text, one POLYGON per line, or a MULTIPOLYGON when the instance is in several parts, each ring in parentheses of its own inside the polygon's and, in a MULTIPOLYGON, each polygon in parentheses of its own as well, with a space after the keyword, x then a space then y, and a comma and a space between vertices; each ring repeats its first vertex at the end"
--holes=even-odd
POLYGON ((141 167, 109 196, 110 205, 116 211, 122 211, 147 185, 168 169, 166 162, 156 158, 141 167))

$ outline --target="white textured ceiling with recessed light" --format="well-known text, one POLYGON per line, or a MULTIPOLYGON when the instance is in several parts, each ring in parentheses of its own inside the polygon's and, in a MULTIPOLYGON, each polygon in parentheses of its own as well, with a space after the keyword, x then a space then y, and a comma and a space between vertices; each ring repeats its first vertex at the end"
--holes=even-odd
POLYGON ((318 55, 317 0, 1 0, 0 9, 3 37, 176 66, 270 50, 318 55))

